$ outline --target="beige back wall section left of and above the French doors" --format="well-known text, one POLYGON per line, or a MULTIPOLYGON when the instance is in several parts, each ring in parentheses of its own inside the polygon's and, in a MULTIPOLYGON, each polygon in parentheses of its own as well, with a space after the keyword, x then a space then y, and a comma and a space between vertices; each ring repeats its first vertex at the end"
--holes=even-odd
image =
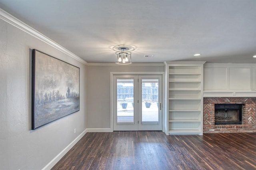
POLYGON ((87 66, 87 128, 110 128, 110 72, 164 71, 163 66, 87 66))

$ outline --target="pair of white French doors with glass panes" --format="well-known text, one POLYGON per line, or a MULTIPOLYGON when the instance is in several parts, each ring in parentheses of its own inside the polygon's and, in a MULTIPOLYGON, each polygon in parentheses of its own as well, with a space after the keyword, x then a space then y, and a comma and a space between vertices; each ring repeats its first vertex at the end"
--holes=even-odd
POLYGON ((162 75, 114 75, 114 130, 162 130, 162 75))

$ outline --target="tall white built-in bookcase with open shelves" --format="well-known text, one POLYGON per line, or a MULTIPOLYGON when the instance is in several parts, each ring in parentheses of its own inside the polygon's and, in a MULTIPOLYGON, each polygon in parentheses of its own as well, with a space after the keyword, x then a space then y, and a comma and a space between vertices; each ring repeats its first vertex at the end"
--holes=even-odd
POLYGON ((204 63, 205 61, 165 62, 168 134, 202 135, 204 63))

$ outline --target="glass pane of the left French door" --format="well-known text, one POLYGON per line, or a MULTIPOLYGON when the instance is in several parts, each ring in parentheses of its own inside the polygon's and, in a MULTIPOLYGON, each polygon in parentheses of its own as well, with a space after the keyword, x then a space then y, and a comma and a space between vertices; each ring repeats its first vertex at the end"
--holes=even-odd
POLYGON ((117 125, 134 125, 134 79, 116 80, 117 125))

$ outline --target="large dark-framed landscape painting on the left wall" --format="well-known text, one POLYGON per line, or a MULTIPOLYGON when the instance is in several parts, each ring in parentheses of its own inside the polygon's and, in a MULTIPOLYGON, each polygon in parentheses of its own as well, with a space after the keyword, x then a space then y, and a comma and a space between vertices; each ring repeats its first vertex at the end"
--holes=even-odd
POLYGON ((80 110, 80 68, 32 49, 32 130, 80 110))

